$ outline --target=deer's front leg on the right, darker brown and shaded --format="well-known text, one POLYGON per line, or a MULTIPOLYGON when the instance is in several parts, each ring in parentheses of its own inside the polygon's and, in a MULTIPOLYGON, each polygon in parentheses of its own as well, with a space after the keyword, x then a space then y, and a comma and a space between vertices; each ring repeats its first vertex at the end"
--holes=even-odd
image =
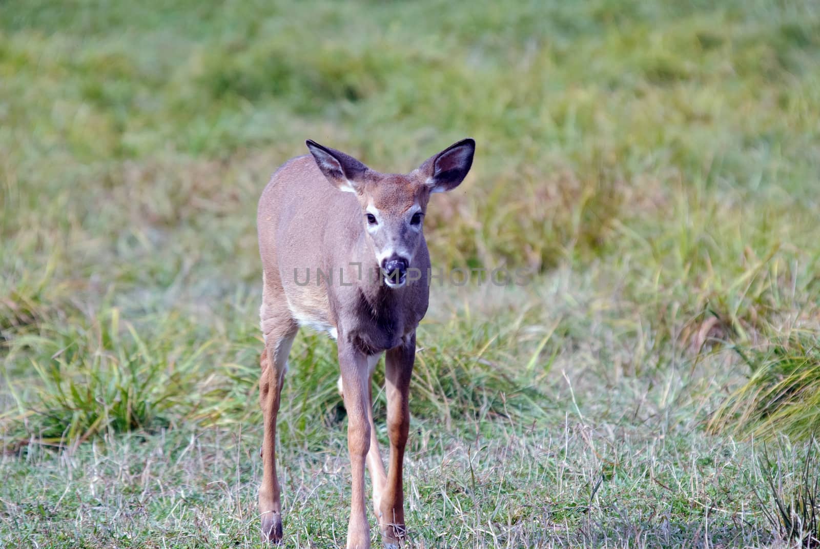
POLYGON ((385 381, 387 386, 387 432, 390 438, 387 482, 381 494, 379 525, 387 547, 399 547, 403 542, 404 446, 410 430, 408 396, 412 366, 416 359, 416 334, 406 337, 402 345, 387 351, 385 381))

